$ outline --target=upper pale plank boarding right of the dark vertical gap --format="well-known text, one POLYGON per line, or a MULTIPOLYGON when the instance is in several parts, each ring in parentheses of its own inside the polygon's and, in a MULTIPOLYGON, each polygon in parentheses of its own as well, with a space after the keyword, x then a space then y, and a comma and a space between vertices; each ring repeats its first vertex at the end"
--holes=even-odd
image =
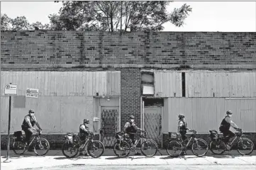
POLYGON ((256 72, 186 72, 187 97, 256 97, 256 72))

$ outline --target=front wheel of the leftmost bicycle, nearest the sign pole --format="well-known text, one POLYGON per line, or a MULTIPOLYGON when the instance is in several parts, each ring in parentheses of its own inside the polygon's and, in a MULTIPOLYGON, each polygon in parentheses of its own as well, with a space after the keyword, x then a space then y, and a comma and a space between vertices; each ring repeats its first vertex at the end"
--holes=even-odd
POLYGON ((50 149, 50 144, 49 144, 48 140, 46 140, 45 138, 40 138, 39 140, 37 140, 35 142, 34 152, 38 156, 43 156, 43 155, 47 154, 49 149, 50 149))

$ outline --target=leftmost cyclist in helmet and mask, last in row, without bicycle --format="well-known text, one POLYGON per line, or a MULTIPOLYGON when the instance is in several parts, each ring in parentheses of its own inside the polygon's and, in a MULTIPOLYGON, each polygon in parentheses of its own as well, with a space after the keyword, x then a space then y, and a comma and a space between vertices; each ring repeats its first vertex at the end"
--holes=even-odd
POLYGON ((23 141, 23 142, 26 142, 26 145, 29 144, 29 140, 33 134, 33 130, 34 131, 36 130, 35 128, 33 128, 34 125, 37 125, 37 127, 40 130, 42 130, 40 128, 38 121, 35 118, 35 111, 30 109, 28 111, 28 115, 25 116, 25 118, 23 119, 23 123, 21 125, 21 129, 25 132, 25 135, 26 135, 25 140, 23 141))

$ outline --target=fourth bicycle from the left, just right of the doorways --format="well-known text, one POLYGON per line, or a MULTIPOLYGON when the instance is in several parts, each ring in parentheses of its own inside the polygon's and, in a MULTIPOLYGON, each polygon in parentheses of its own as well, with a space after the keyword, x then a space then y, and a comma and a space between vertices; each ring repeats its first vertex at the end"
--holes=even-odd
MULTIPOLYGON (((189 130, 189 129, 187 129, 189 130)), ((170 140, 169 144, 167 146, 167 153, 169 154, 169 156, 172 157, 179 157, 181 155, 181 153, 187 152, 188 147, 191 145, 191 151, 194 155, 196 155, 197 157, 204 157, 204 155, 207 154, 208 152, 208 145, 207 142, 201 138, 196 138, 196 130, 189 130, 189 132, 193 132, 188 139, 186 140, 182 140, 181 135, 178 135, 177 133, 172 133, 169 132, 169 135, 174 135, 174 140, 170 140), (188 142, 187 142, 188 141, 188 142), (187 142, 187 145, 186 143, 187 142), (200 150, 205 150, 202 154, 197 153, 196 151, 200 151, 200 150), (172 153, 173 151, 173 153, 172 153)))

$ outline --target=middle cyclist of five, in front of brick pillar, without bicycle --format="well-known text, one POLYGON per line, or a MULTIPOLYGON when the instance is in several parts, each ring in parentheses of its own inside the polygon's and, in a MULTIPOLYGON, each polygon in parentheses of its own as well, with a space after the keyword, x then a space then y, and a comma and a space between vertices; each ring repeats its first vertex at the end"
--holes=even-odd
MULTIPOLYGON (((138 128, 137 125, 135 125, 134 119, 135 117, 133 115, 130 115, 129 120, 126 122, 126 125, 124 125, 123 128, 123 132, 127 133, 130 136, 130 140, 132 140, 133 146, 135 145, 135 134, 137 130, 142 131, 142 129, 138 128)), ((136 150, 135 155, 140 155, 140 153, 136 150)))

